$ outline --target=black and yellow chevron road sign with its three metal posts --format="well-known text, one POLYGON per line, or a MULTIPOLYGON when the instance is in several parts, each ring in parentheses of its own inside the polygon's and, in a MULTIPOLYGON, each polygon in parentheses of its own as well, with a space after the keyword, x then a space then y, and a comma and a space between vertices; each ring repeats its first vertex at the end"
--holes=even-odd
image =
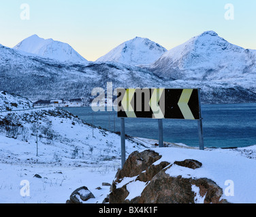
POLYGON ((204 150, 199 89, 119 88, 117 116, 121 118, 121 157, 125 163, 125 118, 158 119, 163 147, 163 119, 197 120, 199 149, 204 150))

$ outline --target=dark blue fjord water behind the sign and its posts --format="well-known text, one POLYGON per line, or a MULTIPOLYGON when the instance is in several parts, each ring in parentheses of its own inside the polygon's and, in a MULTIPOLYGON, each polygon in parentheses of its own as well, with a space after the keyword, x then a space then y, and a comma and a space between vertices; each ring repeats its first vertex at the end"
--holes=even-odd
MULTIPOLYGON (((91 107, 69 107, 87 123, 120 132, 116 111, 93 112, 91 107)), ((244 147, 256 144, 256 104, 203 104, 203 131, 206 147, 244 147)), ((125 119, 125 134, 158 139, 156 119, 125 119)), ((163 140, 198 146, 197 121, 163 119, 163 140)))

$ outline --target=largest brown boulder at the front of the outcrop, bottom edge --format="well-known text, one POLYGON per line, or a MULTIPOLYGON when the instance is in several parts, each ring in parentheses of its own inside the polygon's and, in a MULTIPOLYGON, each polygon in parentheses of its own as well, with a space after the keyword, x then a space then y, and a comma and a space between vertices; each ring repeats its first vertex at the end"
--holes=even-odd
POLYGON ((207 178, 172 177, 159 172, 142 191, 139 203, 195 203, 192 185, 199 187, 199 196, 205 197, 204 203, 227 203, 221 199, 222 189, 207 178), (221 199, 221 200, 220 200, 221 199))

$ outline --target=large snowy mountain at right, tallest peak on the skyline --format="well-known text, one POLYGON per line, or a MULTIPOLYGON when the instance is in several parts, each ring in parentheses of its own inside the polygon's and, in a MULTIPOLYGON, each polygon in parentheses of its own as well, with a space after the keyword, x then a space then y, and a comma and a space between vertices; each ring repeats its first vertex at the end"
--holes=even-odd
POLYGON ((206 31, 165 52, 150 69, 164 79, 255 82, 256 51, 206 31))

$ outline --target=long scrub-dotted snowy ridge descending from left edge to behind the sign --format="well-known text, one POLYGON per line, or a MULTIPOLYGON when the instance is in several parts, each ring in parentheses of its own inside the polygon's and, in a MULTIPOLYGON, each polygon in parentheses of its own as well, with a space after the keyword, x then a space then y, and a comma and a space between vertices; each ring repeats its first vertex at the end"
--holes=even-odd
POLYGON ((0 45, 0 89, 31 100, 93 98, 95 87, 106 90, 108 81, 116 87, 161 86, 150 71, 119 63, 66 64, 38 56, 27 56, 0 45))

